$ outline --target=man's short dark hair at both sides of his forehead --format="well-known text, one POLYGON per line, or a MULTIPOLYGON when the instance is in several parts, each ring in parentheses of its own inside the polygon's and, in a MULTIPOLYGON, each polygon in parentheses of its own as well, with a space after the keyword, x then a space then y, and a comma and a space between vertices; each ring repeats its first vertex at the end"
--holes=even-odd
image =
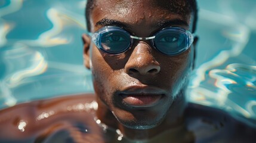
MULTIPOLYGON (((86 19, 86 24, 87 24, 87 30, 88 32, 91 31, 91 23, 90 23, 90 15, 91 11, 94 8, 94 2, 95 0, 87 0, 87 5, 85 8, 85 19, 86 19)), ((193 13, 193 27, 192 27, 192 33, 196 31, 196 24, 198 21, 198 5, 196 0, 187 0, 189 4, 189 12, 193 13)))

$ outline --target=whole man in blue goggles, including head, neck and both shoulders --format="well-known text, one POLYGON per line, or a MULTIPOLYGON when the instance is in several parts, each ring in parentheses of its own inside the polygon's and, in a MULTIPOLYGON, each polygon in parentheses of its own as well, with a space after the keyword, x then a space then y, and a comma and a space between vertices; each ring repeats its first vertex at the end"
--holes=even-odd
POLYGON ((193 0, 88 1, 82 38, 95 95, 3 110, 1 141, 254 142, 255 129, 228 114, 187 106, 196 19, 193 0))

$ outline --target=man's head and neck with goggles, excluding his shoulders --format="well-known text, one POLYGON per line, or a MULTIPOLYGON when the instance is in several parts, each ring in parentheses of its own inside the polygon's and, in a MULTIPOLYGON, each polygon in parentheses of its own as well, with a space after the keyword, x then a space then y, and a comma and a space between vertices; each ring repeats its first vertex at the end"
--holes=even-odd
POLYGON ((190 48, 185 43, 193 36, 186 32, 195 31, 195 1, 89 1, 87 14, 88 30, 98 31, 94 43, 83 36, 85 66, 102 109, 98 119, 131 139, 181 126, 195 61, 196 38, 190 48), (130 35, 144 39, 130 42, 130 35))

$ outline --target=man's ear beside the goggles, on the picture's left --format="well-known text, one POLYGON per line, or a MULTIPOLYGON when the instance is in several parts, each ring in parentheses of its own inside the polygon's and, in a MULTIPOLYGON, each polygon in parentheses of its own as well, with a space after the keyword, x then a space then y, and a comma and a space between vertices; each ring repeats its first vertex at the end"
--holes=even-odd
POLYGON ((84 43, 84 65, 87 69, 90 69, 90 45, 91 38, 89 35, 83 34, 82 41, 84 43))

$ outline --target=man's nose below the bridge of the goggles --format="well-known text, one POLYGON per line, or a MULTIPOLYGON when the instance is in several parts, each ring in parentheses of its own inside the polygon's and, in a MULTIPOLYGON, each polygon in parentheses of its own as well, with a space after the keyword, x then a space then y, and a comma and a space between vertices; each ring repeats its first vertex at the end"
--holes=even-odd
POLYGON ((153 57, 152 49, 144 42, 135 46, 125 64, 125 72, 133 76, 155 76, 160 70, 160 64, 153 57))

